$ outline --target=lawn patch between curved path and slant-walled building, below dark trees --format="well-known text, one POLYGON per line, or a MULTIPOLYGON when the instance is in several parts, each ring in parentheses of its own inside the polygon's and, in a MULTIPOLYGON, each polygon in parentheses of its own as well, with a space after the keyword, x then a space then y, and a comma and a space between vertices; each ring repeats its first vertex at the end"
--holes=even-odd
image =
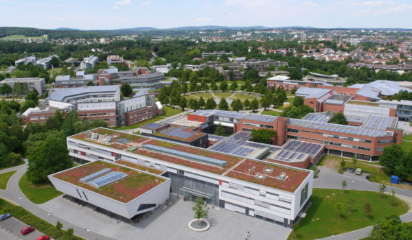
POLYGON ((63 194, 57 191, 51 183, 38 185, 32 184, 27 180, 26 173, 20 178, 19 188, 34 204, 44 204, 63 194))

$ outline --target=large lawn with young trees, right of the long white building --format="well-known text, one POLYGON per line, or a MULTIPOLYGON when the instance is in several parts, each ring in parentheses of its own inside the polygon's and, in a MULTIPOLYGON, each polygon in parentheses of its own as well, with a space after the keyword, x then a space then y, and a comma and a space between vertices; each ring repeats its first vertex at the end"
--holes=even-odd
MULTIPOLYGON (((321 239, 331 235, 340 235, 344 232, 372 226, 386 216, 407 213, 408 206, 401 200, 396 200, 393 206, 389 206, 389 197, 385 195, 379 198, 379 193, 371 191, 340 189, 313 189, 312 205, 306 212, 306 217, 299 222, 297 238, 302 240, 321 239), (352 213, 349 213, 347 200, 354 198, 352 213), (345 208, 340 219, 334 209, 336 203, 342 203, 345 208), (363 206, 371 204, 372 213, 368 219, 364 219, 363 206)), ((288 239, 293 239, 293 232, 288 239)))

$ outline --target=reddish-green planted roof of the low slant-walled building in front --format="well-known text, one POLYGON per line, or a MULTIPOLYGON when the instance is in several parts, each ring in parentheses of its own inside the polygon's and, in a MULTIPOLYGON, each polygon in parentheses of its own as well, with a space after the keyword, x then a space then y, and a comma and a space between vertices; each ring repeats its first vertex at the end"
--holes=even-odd
POLYGON ((159 186, 159 184, 166 180, 161 176, 144 173, 144 171, 138 171, 137 169, 130 168, 130 166, 122 167, 122 165, 107 163, 101 160, 56 173, 52 175, 52 177, 123 203, 134 200, 136 197, 159 186), (103 169, 111 169, 112 171, 117 171, 127 176, 126 178, 111 182, 99 188, 95 188, 88 183, 80 182, 81 178, 90 176, 103 169))

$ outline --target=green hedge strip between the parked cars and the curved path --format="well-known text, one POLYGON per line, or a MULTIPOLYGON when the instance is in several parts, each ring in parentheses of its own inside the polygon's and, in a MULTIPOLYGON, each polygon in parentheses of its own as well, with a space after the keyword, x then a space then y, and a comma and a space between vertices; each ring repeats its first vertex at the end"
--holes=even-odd
MULTIPOLYGON (((53 239, 58 239, 58 237, 60 236, 60 233, 52 224, 49 224, 47 221, 37 217, 36 215, 33 215, 29 211, 25 211, 25 209, 21 206, 15 206, 13 204, 10 204, 10 202, 0 199, 0 214, 5 213, 11 213, 13 217, 19 219, 20 221, 23 221, 23 223, 27 224, 27 226, 33 226, 39 232, 43 232, 45 235, 49 235, 53 239)), ((65 230, 62 230, 61 239, 70 239, 67 236, 67 232, 65 230)), ((80 240, 82 238, 73 235, 73 240, 78 239, 80 240)))

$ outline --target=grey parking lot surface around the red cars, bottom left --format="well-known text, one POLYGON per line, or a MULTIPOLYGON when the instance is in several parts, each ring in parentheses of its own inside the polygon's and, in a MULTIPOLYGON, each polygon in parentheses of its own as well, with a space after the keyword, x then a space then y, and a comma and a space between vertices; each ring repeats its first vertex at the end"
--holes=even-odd
POLYGON ((21 230, 27 227, 27 225, 23 224, 21 221, 11 217, 9 219, 5 219, 4 221, 0 221, 0 239, 1 240, 25 240, 25 239, 37 239, 38 237, 44 236, 43 233, 34 230, 34 232, 30 232, 28 235, 21 235, 21 230))

